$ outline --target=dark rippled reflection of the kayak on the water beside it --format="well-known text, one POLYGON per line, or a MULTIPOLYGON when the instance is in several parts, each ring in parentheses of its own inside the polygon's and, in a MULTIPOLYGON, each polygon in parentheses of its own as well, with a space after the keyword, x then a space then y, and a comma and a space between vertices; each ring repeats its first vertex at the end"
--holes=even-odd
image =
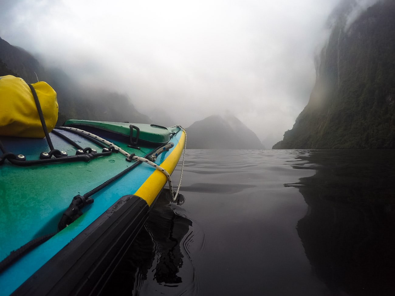
MULTIPOLYGON (((194 234, 190 227, 192 221, 177 212, 169 202, 168 191, 164 189, 103 294, 138 295, 141 290, 147 289, 147 280, 148 289, 153 288, 151 280, 164 287, 179 287, 182 283, 180 269, 186 260, 188 263, 191 260, 188 249, 194 234)), ((193 278, 193 268, 190 273, 189 277, 193 278)), ((160 288, 157 286, 154 289, 160 288)), ((145 291, 144 294, 149 292, 145 291)))

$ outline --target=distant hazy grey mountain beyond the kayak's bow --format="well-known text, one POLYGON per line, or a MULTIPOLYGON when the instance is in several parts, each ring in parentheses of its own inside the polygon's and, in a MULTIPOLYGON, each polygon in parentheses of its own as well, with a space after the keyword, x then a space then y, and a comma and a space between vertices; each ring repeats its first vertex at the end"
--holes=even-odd
POLYGON ((191 149, 264 149, 256 134, 231 114, 209 116, 186 130, 191 149))

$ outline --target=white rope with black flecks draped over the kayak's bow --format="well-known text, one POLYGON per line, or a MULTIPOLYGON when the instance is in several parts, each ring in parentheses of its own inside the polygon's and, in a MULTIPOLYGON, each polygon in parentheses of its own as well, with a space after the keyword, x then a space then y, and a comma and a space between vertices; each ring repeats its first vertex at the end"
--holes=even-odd
MULTIPOLYGON (((89 137, 91 137, 91 138, 94 138, 94 139, 96 139, 96 140, 98 140, 98 141, 100 141, 100 142, 102 142, 102 143, 108 145, 109 147, 111 147, 111 146, 114 147, 115 150, 118 150, 121 154, 125 155, 127 159, 145 162, 145 163, 149 164, 150 166, 154 167, 155 169, 161 171, 161 172, 164 173, 165 176, 167 177, 167 182, 169 183, 169 189, 170 189, 170 192, 171 192, 172 195, 173 195, 172 201, 175 202, 176 199, 177 199, 178 192, 179 192, 180 187, 181 187, 182 170, 184 169, 185 148, 186 148, 186 131, 185 131, 185 129, 182 128, 181 126, 172 126, 172 127, 179 127, 179 128, 182 129, 182 131, 184 131, 184 133, 185 133, 185 146, 184 146, 184 157, 182 158, 181 177, 180 177, 180 182, 179 182, 179 184, 178 184, 177 192, 176 192, 175 195, 173 195, 173 182, 171 182, 171 176, 170 176, 170 174, 169 174, 164 168, 160 167, 160 166, 157 165, 156 163, 154 163, 154 162, 152 162, 152 161, 150 161, 149 159, 144 158, 144 157, 139 157, 139 156, 136 156, 136 155, 133 155, 133 156, 132 156, 132 154, 126 152, 125 150, 123 150, 123 149, 120 148, 119 146, 115 145, 114 143, 112 143, 112 142, 110 142, 110 141, 107 141, 106 139, 103 139, 102 137, 99 137, 98 135, 89 133, 88 131, 84 131, 83 129, 77 129, 77 128, 75 128, 75 127, 68 127, 68 126, 66 126, 66 127, 64 127, 64 128, 70 129, 70 130, 72 130, 72 131, 77 131, 77 132, 82 133, 82 134, 84 134, 84 135, 87 135, 87 136, 89 136, 89 137)), ((173 146, 174 146, 174 144, 173 144, 173 146)))

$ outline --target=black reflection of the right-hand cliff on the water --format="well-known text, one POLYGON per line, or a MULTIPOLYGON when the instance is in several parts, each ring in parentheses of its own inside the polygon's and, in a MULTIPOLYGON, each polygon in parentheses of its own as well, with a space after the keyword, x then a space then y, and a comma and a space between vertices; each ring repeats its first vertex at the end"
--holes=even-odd
POLYGON ((297 232, 333 295, 395 294, 393 151, 313 151, 296 169, 308 211, 297 232))

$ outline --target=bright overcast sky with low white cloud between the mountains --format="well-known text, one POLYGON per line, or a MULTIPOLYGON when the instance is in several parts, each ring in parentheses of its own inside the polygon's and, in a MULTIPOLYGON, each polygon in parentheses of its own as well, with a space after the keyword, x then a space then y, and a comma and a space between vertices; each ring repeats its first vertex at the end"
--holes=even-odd
POLYGON ((151 117, 169 104, 188 127, 229 111, 271 148, 308 102, 339 2, 2 0, 0 37, 151 117))

